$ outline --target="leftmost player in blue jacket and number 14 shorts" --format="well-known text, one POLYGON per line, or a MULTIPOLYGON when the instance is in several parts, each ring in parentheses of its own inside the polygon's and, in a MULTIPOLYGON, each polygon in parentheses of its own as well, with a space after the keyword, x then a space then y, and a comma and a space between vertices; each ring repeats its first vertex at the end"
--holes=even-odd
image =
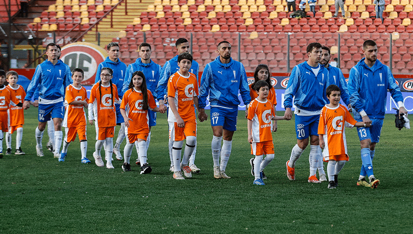
POLYGON ((60 158, 60 146, 63 132, 62 121, 64 116, 63 96, 65 87, 72 83, 70 68, 58 58, 58 47, 54 43, 46 46, 47 60, 37 65, 35 74, 27 89, 23 108, 30 107, 30 101, 39 88, 39 125, 36 128, 36 153, 44 156, 42 148, 43 132, 47 121, 53 119, 55 126, 55 158, 60 158))

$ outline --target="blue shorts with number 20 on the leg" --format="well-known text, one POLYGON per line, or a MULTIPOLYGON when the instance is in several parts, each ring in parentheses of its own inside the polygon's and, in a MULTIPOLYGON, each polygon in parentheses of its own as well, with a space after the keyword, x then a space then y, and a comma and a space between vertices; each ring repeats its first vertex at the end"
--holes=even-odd
POLYGON ((297 139, 307 139, 310 135, 318 136, 318 122, 320 115, 295 115, 295 133, 297 139))

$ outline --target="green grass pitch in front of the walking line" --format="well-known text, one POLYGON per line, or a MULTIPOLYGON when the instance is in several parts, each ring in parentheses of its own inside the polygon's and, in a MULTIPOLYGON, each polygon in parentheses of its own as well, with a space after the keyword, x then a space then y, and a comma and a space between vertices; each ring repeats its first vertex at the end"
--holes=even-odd
MULTIPOLYGON (((278 121, 273 133, 275 159, 265 169, 269 179, 265 186, 253 186, 242 111, 226 169, 230 180, 213 178, 210 120, 198 123, 195 162, 201 173, 177 181, 169 171, 165 114, 158 114, 158 124, 152 128, 150 174, 139 174, 135 150, 131 172, 122 171, 123 161, 113 161, 115 169, 97 167, 92 156, 95 131, 90 125, 91 164, 81 163, 77 138, 69 145, 66 161, 58 162, 46 150, 46 132, 45 157, 37 157, 36 116, 33 107, 25 114, 26 155, 0 159, 0 232, 411 233, 413 229, 413 132, 397 130, 391 114, 385 117, 373 161, 381 182, 375 190, 356 186, 361 160, 355 128, 347 129, 350 161, 339 174, 339 188, 327 189, 327 182, 307 183, 309 147, 296 163, 296 181, 287 179, 285 164, 296 144, 293 121, 278 121)), ((12 145, 14 149, 15 133, 12 145)))

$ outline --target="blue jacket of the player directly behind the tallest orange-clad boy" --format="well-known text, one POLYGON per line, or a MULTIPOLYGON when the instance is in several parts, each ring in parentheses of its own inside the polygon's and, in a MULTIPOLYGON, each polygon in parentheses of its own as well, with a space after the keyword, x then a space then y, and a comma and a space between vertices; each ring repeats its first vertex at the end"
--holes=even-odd
MULTIPOLYGON (((166 95, 166 86, 168 84, 169 77, 171 77, 171 75, 173 75, 177 71, 179 71, 178 55, 173 57, 171 60, 167 61, 165 65, 162 67, 161 77, 159 78, 157 92, 156 92, 158 100, 164 100, 164 97, 166 95)), ((199 64, 195 60, 192 60, 192 66, 189 72, 194 74, 196 76, 196 80, 199 81, 198 79, 199 64)))

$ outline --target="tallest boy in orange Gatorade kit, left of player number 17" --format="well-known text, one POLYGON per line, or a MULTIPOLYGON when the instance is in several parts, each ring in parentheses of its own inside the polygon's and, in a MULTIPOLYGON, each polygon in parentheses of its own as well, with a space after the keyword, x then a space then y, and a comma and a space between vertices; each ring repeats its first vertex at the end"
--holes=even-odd
POLYGON ((173 178, 184 180, 182 170, 184 170, 185 177, 192 177, 188 161, 196 144, 196 113, 194 105, 199 112, 199 92, 196 76, 189 72, 192 66, 192 55, 190 53, 179 54, 178 66, 179 71, 175 72, 168 81, 168 123, 169 138, 173 140, 173 178), (180 162, 184 139, 186 139, 186 147, 182 162, 180 162))

